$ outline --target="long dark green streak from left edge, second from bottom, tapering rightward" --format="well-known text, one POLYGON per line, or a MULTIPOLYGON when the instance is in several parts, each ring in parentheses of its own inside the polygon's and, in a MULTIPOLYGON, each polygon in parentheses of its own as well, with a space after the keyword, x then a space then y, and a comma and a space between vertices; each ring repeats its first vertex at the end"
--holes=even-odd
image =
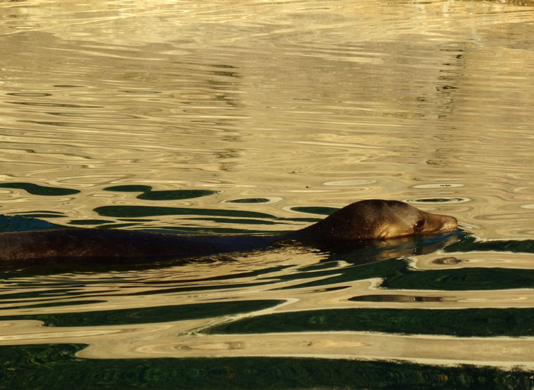
POLYGON ((53 313, 0 316, 5 320, 38 320, 44 326, 102 326, 151 324, 199 318, 220 317, 247 313, 274 307, 282 300, 245 300, 236 302, 210 302, 202 304, 176 304, 160 307, 139 307, 135 309, 87 311, 79 313, 53 313))

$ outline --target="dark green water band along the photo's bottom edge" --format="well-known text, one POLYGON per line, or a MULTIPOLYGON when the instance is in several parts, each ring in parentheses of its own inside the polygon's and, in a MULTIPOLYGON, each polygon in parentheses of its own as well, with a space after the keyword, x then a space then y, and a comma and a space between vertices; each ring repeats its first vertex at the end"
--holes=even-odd
POLYGON ((531 389, 491 367, 283 357, 82 359, 84 344, 0 346, 4 389, 531 389))

